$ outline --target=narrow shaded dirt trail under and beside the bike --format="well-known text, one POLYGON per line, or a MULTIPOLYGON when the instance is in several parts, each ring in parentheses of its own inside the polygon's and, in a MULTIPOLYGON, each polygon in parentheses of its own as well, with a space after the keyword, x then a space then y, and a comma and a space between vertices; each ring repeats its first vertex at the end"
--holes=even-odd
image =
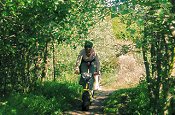
POLYGON ((114 90, 101 87, 101 90, 95 92, 95 99, 92 101, 92 104, 88 111, 82 111, 81 103, 79 103, 76 105, 74 111, 65 112, 64 115, 104 115, 103 102, 113 91, 114 90))

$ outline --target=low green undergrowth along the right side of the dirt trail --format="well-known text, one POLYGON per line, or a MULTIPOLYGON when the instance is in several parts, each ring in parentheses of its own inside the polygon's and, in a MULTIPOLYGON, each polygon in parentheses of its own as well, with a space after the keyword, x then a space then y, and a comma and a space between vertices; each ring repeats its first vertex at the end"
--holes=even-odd
POLYGON ((148 115, 149 100, 146 84, 135 88, 120 89, 112 93, 104 102, 106 114, 148 115))

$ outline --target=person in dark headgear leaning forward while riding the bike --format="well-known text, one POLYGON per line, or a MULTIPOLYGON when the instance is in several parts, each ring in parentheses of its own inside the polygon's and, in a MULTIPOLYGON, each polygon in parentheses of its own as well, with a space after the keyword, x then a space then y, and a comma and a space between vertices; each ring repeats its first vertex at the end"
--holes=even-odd
MULTIPOLYGON (((100 70, 100 63, 98 59, 97 53, 94 51, 93 43, 91 41, 85 41, 84 49, 82 49, 78 55, 76 66, 75 66, 75 73, 84 73, 89 72, 93 74, 93 79, 90 81, 90 90, 93 89, 94 78, 99 75, 100 70)), ((85 83, 83 78, 80 78, 79 84, 85 87, 85 83)))

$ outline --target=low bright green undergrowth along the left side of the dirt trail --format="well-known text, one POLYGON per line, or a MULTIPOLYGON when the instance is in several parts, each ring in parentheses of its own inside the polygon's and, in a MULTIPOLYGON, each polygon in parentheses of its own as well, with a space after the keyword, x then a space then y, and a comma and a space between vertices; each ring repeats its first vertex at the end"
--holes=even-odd
POLYGON ((77 84, 44 82, 38 84, 34 92, 29 94, 12 94, 0 106, 0 114, 4 115, 58 115, 68 110, 81 95, 81 88, 77 84))

